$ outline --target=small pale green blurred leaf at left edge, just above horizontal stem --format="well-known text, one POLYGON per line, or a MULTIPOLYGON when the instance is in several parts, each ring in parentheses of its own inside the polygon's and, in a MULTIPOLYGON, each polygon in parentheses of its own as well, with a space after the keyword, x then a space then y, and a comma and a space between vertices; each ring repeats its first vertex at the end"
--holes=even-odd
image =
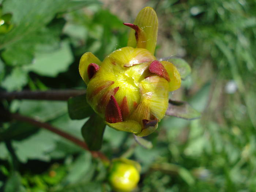
POLYGON ((28 82, 27 72, 20 67, 15 67, 11 74, 1 82, 1 87, 7 91, 21 90, 28 82))

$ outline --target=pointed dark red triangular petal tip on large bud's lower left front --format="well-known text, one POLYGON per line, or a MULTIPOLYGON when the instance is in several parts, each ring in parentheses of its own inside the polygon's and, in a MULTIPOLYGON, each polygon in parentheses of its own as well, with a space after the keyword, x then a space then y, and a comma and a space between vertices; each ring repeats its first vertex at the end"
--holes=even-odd
POLYGON ((123 121, 121 109, 113 95, 110 96, 109 103, 106 106, 105 119, 108 123, 123 121))

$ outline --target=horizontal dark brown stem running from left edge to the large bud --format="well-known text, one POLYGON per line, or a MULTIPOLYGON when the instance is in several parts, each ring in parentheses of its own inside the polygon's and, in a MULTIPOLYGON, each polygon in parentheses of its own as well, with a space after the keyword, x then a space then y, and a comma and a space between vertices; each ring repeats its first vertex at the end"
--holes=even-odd
POLYGON ((0 92, 0 100, 7 99, 34 99, 34 100, 57 100, 67 101, 69 97, 85 94, 86 90, 48 90, 48 91, 29 91, 20 92, 0 92))

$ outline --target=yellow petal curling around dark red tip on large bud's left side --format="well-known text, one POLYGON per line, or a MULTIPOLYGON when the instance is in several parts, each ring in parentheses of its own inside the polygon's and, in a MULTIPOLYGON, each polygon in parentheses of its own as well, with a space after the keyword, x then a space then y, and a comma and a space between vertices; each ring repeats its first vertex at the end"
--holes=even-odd
POLYGON ((79 62, 79 73, 86 84, 89 83, 87 67, 90 63, 96 63, 97 65, 100 65, 101 61, 95 57, 93 53, 86 52, 83 54, 79 62))

